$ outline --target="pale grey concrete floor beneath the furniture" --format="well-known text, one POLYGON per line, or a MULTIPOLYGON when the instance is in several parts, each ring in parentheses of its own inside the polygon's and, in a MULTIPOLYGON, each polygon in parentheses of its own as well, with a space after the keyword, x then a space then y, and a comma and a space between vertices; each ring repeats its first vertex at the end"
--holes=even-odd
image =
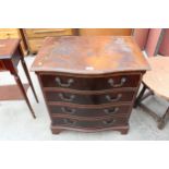
MULTIPOLYGON (((35 57, 26 57, 26 63, 31 68, 35 57)), ((27 82, 22 67, 19 65, 20 75, 23 82, 27 82)), ((81 133, 64 131, 59 135, 53 135, 50 132, 50 119, 45 106, 41 90, 34 72, 31 76, 39 98, 39 104, 36 104, 31 88, 27 94, 36 112, 37 119, 34 120, 24 100, 20 101, 1 101, 0 102, 0 140, 96 140, 96 141, 113 141, 113 140, 169 140, 169 122, 164 130, 158 130, 157 124, 146 114, 141 108, 133 109, 130 118, 130 131, 126 135, 121 135, 119 132, 106 131, 97 133, 81 133)), ((14 84, 13 76, 9 72, 0 73, 0 85, 14 84), (2 81, 3 80, 3 81, 2 81)), ((167 102, 158 97, 149 97, 145 100, 152 109, 157 112, 165 112, 167 102)))

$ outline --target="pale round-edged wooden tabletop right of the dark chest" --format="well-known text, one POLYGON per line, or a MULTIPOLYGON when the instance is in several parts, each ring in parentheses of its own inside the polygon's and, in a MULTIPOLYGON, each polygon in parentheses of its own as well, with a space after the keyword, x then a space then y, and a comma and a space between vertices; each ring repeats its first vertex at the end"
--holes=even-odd
POLYGON ((143 82, 157 95, 169 100, 169 58, 148 58, 152 71, 146 72, 143 82))

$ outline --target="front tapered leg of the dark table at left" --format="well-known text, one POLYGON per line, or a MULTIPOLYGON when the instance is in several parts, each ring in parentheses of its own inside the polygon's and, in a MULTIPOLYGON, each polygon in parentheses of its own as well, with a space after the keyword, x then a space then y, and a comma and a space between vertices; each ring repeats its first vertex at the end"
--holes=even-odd
POLYGON ((28 100, 27 95, 25 93, 24 86, 23 86, 23 84, 22 84, 22 82, 20 80, 20 76, 17 74, 13 74, 13 75, 14 75, 14 79, 15 79, 15 81, 16 81, 16 83, 17 83, 17 85, 19 85, 19 87, 20 87, 20 89, 21 89, 21 92, 22 92, 22 94, 23 94, 23 96, 25 98, 25 100, 26 100, 26 104, 27 104, 27 106, 28 106, 28 108, 29 108, 29 110, 31 110, 31 112, 33 114, 33 118, 35 119, 36 118, 35 112, 34 112, 34 110, 33 110, 33 108, 32 108, 32 106, 29 104, 29 100, 28 100))

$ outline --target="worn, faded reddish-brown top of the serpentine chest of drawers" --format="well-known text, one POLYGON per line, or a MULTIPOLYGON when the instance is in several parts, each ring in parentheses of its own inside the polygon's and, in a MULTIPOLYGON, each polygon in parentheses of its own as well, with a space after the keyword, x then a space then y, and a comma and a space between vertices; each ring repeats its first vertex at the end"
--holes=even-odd
POLYGON ((145 71, 149 65, 131 36, 61 36, 46 38, 32 70, 105 74, 145 71))

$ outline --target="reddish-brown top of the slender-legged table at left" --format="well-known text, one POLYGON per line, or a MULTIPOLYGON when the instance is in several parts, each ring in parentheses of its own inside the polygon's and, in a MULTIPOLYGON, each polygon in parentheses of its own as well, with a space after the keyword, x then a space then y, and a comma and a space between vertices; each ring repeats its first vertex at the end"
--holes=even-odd
POLYGON ((0 60, 11 58, 19 44, 20 39, 0 39, 0 60))

